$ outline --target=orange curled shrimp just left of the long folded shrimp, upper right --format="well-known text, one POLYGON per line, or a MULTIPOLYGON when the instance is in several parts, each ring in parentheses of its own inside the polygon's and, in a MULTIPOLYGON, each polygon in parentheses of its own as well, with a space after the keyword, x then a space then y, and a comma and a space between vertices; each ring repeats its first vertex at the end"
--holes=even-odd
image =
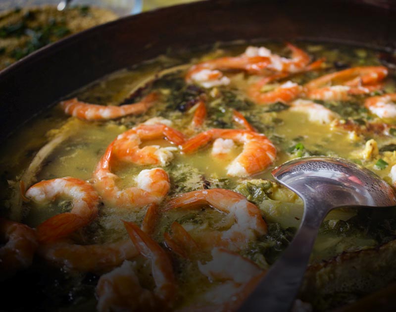
POLYGON ((248 97, 257 104, 288 103, 297 98, 302 91, 302 87, 297 83, 287 81, 281 85, 274 86, 273 90, 263 92, 263 87, 265 87, 267 81, 268 79, 264 78, 247 89, 248 97))

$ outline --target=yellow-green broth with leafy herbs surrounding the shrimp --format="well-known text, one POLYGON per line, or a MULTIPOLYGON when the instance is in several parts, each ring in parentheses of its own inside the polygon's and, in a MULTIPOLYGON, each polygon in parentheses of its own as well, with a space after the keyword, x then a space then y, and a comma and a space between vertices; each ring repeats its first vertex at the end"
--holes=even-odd
MULTIPOLYGON (((298 42, 298 47, 307 51, 312 59, 325 57, 324 65, 308 72, 293 74, 281 79, 279 85, 290 79, 294 83, 304 84, 322 75, 354 66, 379 65, 376 51, 356 49, 353 47, 337 47, 318 43, 298 42)), ((265 43, 274 53, 289 57, 289 52, 278 43, 265 43)), ((210 52, 180 53, 161 56, 150 62, 134 66, 130 69, 114 73, 95 82, 73 96, 81 101, 96 104, 125 104, 139 101, 150 92, 158 92, 160 101, 150 107, 145 114, 124 116, 111 121, 83 122, 78 131, 68 137, 60 146, 55 148, 49 156, 43 159, 36 181, 63 176, 73 176, 83 180, 91 180, 99 159, 108 144, 117 135, 141 124, 152 117, 162 117, 171 120, 172 127, 192 137, 199 132, 212 128, 242 129, 233 120, 233 110, 238 110, 247 121, 260 133, 265 134, 275 145, 277 157, 268 168, 253 176, 227 176, 228 166, 243 150, 242 145, 236 145, 223 158, 212 155, 210 147, 199 149, 193 154, 174 152, 174 157, 163 166, 168 172, 170 190, 167 197, 159 205, 159 212, 155 227, 150 234, 164 249, 169 251, 164 243, 164 233, 172 232, 172 223, 181 224, 198 242, 205 243, 213 239, 214 233, 229 230, 235 223, 235 217, 210 205, 199 208, 177 208, 166 210, 170 198, 196 190, 224 188, 242 194, 251 203, 257 205, 260 215, 268 225, 268 233, 247 242, 238 253, 255 262, 261 269, 267 269, 274 263, 281 252, 288 246, 299 225, 302 215, 302 201, 296 194, 273 181, 271 169, 292 158, 308 155, 340 156, 359 162, 375 171, 382 178, 392 183, 391 168, 396 164, 396 145, 393 136, 384 132, 370 131, 373 123, 395 124, 393 120, 383 120, 372 114, 364 107, 364 100, 371 93, 352 97, 350 101, 315 100, 316 104, 329 108, 339 116, 342 124, 351 122, 358 125, 355 131, 349 131, 336 123, 321 123, 312 121, 303 112, 290 109, 290 103, 276 102, 273 104, 255 104, 247 96, 247 88, 252 83, 247 73, 225 71, 230 84, 204 88, 198 83, 187 83, 185 80, 186 60, 194 62, 209 61, 217 57, 237 55, 245 51, 246 45, 217 45, 210 52), (203 56, 202 56, 203 55, 203 56), (192 58, 195 56, 196 58, 192 58), (199 129, 191 126, 198 100, 206 104, 206 118, 199 129), (365 129, 357 131, 356 129, 365 129), (368 141, 374 140, 375 143, 368 141), (206 239, 206 240, 205 240, 206 239)), ((251 75, 251 76, 254 76, 251 75)), ((263 92, 271 92, 278 84, 273 84, 263 92)), ((385 80, 387 92, 395 90, 395 81, 385 80)), ((384 91, 381 91, 384 92, 384 91)), ((1 202, 4 209, 1 215, 7 216, 8 211, 15 209, 15 203, 10 199, 15 190, 19 191, 17 182, 29 166, 36 153, 53 138, 53 132, 61 129, 68 118, 59 107, 53 107, 50 112, 42 113, 29 127, 35 128, 35 134, 20 132, 14 135, 1 155, 1 183, 4 185, 1 202), (50 114, 49 118, 46 115, 50 114), (54 131, 55 129, 55 131, 54 131), (47 133, 47 139, 43 140, 47 133), (39 135, 40 134, 40 135, 39 135), (7 182, 10 181, 10 182, 7 182), (16 181, 12 184, 12 181, 16 181), (11 185, 8 187, 8 185, 11 185), (16 185, 16 186, 15 186, 16 185)), ((26 128, 27 129, 27 128, 26 128)), ((61 131, 61 130, 59 130, 61 131)), ((160 147, 175 148, 166 140, 144 142, 143 146, 158 145, 160 147)), ((114 163, 112 173, 118 176, 116 185, 119 189, 136 186, 135 177, 143 169, 156 166, 137 166, 127 162, 114 163)), ((35 181, 35 182, 36 182, 35 181)), ((28 185, 30 186, 30 185, 28 185)), ((52 203, 49 207, 23 203, 22 222, 29 226, 37 226, 50 216, 67 211, 68 201, 52 203)), ((105 244, 127 239, 127 233, 121 220, 142 224, 147 207, 142 209, 119 208, 101 203, 99 216, 86 228, 75 233, 71 238, 74 243, 81 245, 105 244)), ((324 274, 324 279, 332 280, 332 270, 322 272, 318 266, 325 265, 339 255, 355 253, 378 248, 382 244, 393 242, 395 239, 394 210, 362 212, 354 209, 338 209, 329 213, 322 225, 313 253, 309 274, 324 274)), ((389 247, 391 248, 391 247, 389 247)), ((177 283, 177 302, 174 309, 186 308, 189 305, 205 303, 205 298, 216 287, 222 287, 222 281, 211 280, 200 271, 212 256, 207 251, 198 251, 195 260, 189 260, 169 251, 177 283), (199 263, 198 263, 199 262, 199 263)), ((143 286, 154 288, 150 276, 149 265, 143 257, 131 259, 136 261, 136 271, 143 286)), ((341 262, 340 267, 349 265, 341 262)), ((364 262, 364 258, 362 258, 364 262)), ((385 260, 386 261, 386 260, 385 260)), ((24 283, 25 275, 41 276, 43 271, 48 276, 37 281, 29 280, 30 287, 45 284, 45 289, 51 289, 51 297, 37 296, 32 298, 32 306, 45 311, 91 311, 96 309, 95 288, 101 274, 105 272, 70 273, 65 267, 49 268, 40 257, 25 272, 18 273, 11 278, 13 285, 9 290, 1 288, 4 298, 15 291, 15 285, 24 283), (60 283, 62 287, 52 287, 60 283), (68 297, 69 296, 69 297, 68 297), (65 299, 67 298, 67 299, 65 299)), ((336 267, 336 266, 335 266, 336 267)), ((333 268, 333 267, 332 267, 333 268)), ((392 269, 392 263, 389 264, 392 269)), ((334 270, 334 269, 333 269, 334 270)), ((365 274, 364 268, 357 271, 365 274)), ((316 276, 316 275, 315 275, 316 276)), ((308 278, 305 281, 300 298, 309 302, 314 311, 325 311, 333 307, 341 307, 351 298, 357 300, 368 292, 374 291, 381 283, 373 283, 372 288, 363 292, 352 282, 344 289, 334 288, 324 293, 315 288, 317 281, 308 278)), ((359 283, 359 279, 356 279, 359 283)), ((220 289, 220 288, 219 288, 220 289)), ((5 307, 11 305, 5 299, 5 307)))

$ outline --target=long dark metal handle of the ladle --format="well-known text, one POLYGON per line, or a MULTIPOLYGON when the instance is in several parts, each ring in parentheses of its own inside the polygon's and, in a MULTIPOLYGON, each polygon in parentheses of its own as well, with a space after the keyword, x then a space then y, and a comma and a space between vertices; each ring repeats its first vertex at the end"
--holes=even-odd
MULTIPOLYGON (((306 211, 306 207, 305 207, 306 211)), ((239 309, 240 312, 288 312, 297 296, 323 215, 303 218, 289 247, 239 309)))

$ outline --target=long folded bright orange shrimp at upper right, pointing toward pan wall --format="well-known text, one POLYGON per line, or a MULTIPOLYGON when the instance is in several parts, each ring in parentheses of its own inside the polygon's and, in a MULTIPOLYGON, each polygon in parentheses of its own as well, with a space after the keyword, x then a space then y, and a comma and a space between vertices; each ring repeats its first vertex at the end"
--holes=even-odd
POLYGON ((388 75, 383 66, 359 66, 334 72, 304 85, 306 97, 313 100, 347 101, 350 95, 380 90, 380 82, 388 75))

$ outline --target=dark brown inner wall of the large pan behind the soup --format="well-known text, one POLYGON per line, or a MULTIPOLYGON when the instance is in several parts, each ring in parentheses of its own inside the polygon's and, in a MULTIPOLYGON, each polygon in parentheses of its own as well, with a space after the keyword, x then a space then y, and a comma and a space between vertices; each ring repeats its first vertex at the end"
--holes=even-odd
POLYGON ((201 1, 125 17, 70 36, 0 72, 0 140, 80 87, 169 49, 241 39, 308 39, 393 51, 396 4, 370 2, 201 1))

